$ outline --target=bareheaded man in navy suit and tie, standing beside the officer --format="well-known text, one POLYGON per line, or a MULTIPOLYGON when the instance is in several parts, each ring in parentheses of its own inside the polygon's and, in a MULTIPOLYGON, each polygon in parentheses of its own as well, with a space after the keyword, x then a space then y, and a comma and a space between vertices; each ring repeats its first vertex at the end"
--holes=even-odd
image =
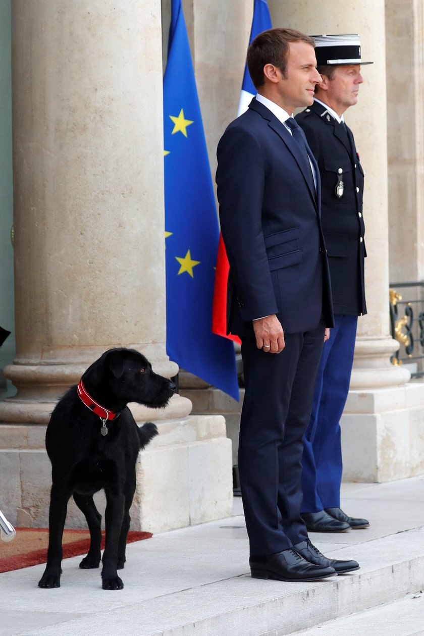
POLYGON ((320 177, 292 117, 313 101, 313 40, 270 29, 249 46, 257 88, 217 148, 229 261, 228 331, 242 339, 238 468, 252 577, 308 581, 359 566, 326 558, 300 516, 303 433, 325 327, 333 325, 320 177))

